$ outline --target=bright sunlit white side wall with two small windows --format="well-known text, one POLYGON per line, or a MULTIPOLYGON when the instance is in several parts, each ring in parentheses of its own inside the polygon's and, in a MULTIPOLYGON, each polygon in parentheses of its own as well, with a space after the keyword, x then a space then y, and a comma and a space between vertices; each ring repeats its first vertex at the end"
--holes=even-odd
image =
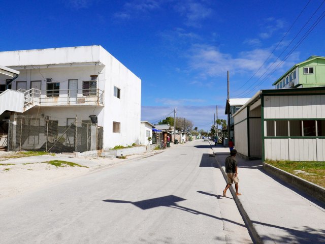
POLYGON ((141 80, 102 47, 100 59, 105 65, 105 149, 140 144, 141 80), (120 99, 113 96, 114 86, 121 89, 120 99), (113 133, 113 121, 120 123, 120 133, 113 133))

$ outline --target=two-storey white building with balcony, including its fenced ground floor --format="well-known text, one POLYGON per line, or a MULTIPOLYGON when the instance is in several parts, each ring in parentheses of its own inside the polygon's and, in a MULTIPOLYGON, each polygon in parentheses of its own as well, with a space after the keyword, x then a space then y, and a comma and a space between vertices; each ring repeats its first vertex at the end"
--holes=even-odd
POLYGON ((1 101, 11 101, 0 120, 10 117, 13 126, 21 125, 13 132, 16 148, 46 144, 48 149, 56 143, 83 151, 95 149, 88 147, 94 140, 101 140, 104 149, 140 142, 141 80, 102 46, 5 51, 0 64, 20 72, 13 81, 0 80, 1 88, 23 97, 15 102, 12 92, 0 94, 1 101), (78 136, 81 130, 84 137, 78 136), (77 148, 78 143, 87 146, 77 148))

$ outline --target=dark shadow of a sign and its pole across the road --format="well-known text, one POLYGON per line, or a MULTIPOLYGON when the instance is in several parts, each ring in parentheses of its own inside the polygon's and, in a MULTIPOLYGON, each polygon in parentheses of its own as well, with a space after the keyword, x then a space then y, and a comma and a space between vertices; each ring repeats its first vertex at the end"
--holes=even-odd
POLYGON ((220 218, 220 217, 216 217, 213 215, 209 215, 206 214, 205 212, 201 212, 192 208, 188 208, 188 207, 183 207, 181 205, 178 205, 177 202, 180 201, 184 201, 186 199, 181 198, 181 197, 177 197, 174 195, 169 195, 169 196, 164 196, 164 197, 158 197, 158 198, 152 198, 152 199, 147 199, 147 200, 142 200, 142 201, 137 201, 137 202, 132 202, 132 201, 124 201, 124 200, 115 200, 115 199, 106 199, 103 200, 104 202, 110 202, 110 203, 129 203, 129 204, 133 204, 143 210, 147 210, 150 208, 155 208, 155 207, 171 207, 171 208, 176 208, 182 211, 186 211, 189 212, 190 214, 194 214, 194 215, 203 215, 203 216, 207 216, 210 218, 214 218, 217 220, 221 220, 221 221, 227 221, 230 223, 233 223, 235 225, 239 225, 242 227, 246 227, 243 224, 237 223, 235 221, 229 220, 229 219, 225 219, 225 218, 220 218))

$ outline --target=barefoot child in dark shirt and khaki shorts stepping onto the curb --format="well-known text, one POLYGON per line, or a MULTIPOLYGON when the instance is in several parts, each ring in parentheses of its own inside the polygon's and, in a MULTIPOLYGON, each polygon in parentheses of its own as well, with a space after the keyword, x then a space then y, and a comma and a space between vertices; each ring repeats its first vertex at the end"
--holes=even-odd
POLYGON ((235 183, 236 196, 240 196, 242 194, 238 193, 238 173, 237 173, 237 159, 236 159, 237 150, 233 149, 230 151, 230 156, 225 159, 225 173, 227 175, 227 185, 223 190, 223 196, 225 197, 225 193, 230 188, 232 184, 235 183))

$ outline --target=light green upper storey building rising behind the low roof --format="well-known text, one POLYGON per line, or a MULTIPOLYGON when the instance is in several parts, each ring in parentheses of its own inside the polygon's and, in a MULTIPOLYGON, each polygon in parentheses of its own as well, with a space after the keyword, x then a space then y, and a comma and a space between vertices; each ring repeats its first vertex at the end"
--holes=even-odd
POLYGON ((291 67, 272 85, 275 89, 325 86, 325 57, 310 56, 291 67))

